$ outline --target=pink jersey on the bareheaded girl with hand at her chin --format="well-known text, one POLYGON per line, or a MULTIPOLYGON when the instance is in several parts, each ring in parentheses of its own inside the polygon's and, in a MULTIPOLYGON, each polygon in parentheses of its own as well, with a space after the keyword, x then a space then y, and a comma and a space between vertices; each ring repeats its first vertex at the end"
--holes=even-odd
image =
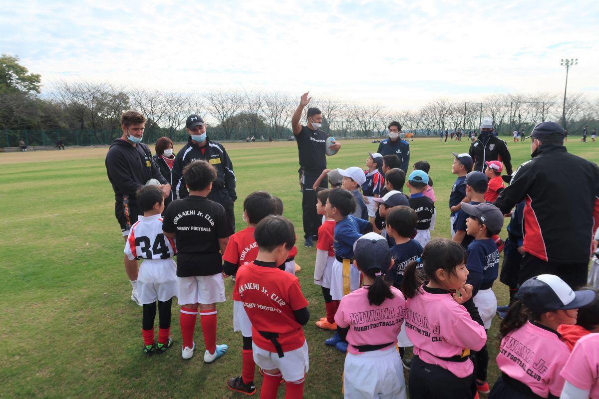
POLYGON ((418 288, 406 301, 406 333, 420 360, 451 371, 456 377, 472 374, 472 361, 449 361, 464 349, 480 351, 486 342, 485 327, 468 314, 464 306, 453 300, 448 291, 418 288))

